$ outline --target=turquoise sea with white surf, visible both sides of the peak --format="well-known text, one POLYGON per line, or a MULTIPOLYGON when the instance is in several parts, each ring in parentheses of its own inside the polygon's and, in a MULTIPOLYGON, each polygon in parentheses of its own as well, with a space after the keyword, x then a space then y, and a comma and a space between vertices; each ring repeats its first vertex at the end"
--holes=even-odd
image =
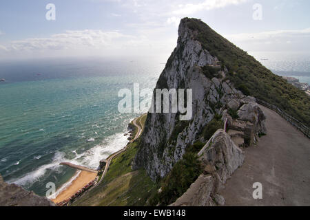
MULTIPOLYGON (((276 74, 310 84, 309 55, 249 54, 276 74)), ((127 144, 127 124, 139 115, 118 111, 118 91, 134 83, 153 89, 167 58, 0 61, 3 179, 45 196, 48 183, 62 190, 76 176, 60 162, 96 169, 127 144)))

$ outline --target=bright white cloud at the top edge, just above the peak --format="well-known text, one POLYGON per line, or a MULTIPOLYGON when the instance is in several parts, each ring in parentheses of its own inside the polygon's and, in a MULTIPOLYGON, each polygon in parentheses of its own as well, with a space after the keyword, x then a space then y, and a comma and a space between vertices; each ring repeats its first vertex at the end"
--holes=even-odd
POLYGON ((239 5, 245 3, 247 0, 205 0, 200 3, 187 3, 180 4, 178 8, 172 12, 172 14, 185 15, 194 14, 201 10, 213 10, 216 8, 225 8, 229 5, 239 5))

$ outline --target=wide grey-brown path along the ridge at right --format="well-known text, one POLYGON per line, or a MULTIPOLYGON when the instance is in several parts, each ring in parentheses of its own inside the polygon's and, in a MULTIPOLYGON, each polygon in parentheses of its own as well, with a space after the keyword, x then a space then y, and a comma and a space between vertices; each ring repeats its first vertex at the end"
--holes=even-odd
POLYGON ((310 206, 310 140, 280 115, 262 107, 267 135, 245 150, 245 164, 220 195, 226 206, 310 206), (255 182, 262 199, 253 199, 255 182))

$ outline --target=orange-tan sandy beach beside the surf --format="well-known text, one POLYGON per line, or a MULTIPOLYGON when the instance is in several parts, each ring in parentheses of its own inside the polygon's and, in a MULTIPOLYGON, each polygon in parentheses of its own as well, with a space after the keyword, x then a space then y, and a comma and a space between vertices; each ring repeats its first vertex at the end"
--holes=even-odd
POLYGON ((59 203, 65 199, 70 198, 74 193, 78 192, 83 188, 85 185, 89 184, 90 181, 93 181, 96 178, 96 173, 91 173, 87 171, 81 171, 78 177, 72 181, 72 184, 65 188, 59 195, 56 197, 56 199, 52 199, 54 203, 59 203))

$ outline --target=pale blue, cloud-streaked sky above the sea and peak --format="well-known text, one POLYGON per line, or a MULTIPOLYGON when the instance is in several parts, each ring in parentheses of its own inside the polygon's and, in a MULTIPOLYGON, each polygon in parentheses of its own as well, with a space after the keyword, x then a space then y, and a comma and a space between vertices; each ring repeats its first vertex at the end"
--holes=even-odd
POLYGON ((167 58, 183 17, 247 52, 309 52, 309 9, 309 0, 2 0, 0 59, 167 58))

